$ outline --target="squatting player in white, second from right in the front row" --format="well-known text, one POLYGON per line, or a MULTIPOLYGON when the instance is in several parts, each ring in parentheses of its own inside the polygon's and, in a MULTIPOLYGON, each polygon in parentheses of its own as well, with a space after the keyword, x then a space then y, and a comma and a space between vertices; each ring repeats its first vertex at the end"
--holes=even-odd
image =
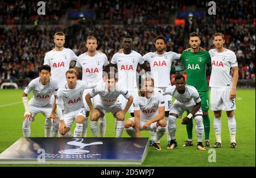
POLYGON ((154 79, 146 78, 142 91, 134 99, 134 117, 125 121, 125 130, 131 137, 141 137, 141 130, 156 132, 154 146, 161 150, 160 138, 166 132, 164 120, 164 98, 158 91, 154 91, 154 79), (143 91, 144 90, 144 91, 143 91))

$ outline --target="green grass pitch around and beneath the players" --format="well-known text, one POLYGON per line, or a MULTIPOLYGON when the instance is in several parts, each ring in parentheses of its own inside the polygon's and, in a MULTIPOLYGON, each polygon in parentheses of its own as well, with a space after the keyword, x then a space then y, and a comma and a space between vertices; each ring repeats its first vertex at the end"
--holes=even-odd
MULTIPOLYGON (((7 149, 7 147, 12 145, 17 139, 22 137, 24 113, 21 99, 22 92, 23 90, 0 90, 0 152, 7 149)), ((195 141, 197 138, 195 128, 193 128, 194 146, 182 147, 185 139, 187 139, 187 133, 185 126, 181 125, 181 119, 177 119, 177 149, 166 149, 167 139, 166 135, 164 135, 161 139, 162 150, 156 151, 154 150, 154 147, 150 147, 150 151, 148 152, 147 158, 144 160, 142 166, 255 166, 255 89, 237 90, 236 106, 237 149, 230 149, 228 119, 226 117, 226 113, 222 112, 221 118, 222 147, 220 149, 214 149, 216 151, 216 162, 208 162, 208 157, 212 153, 208 153, 209 148, 207 148, 206 151, 199 151, 196 149, 195 141)), ((210 143, 213 145, 216 140, 213 130, 213 112, 209 111, 209 115, 211 120, 210 143)), ((106 118, 106 137, 114 137, 114 118, 109 114, 106 115, 106 118)), ((127 118, 129 118, 129 115, 126 115, 126 119, 127 118)), ((74 124, 72 130, 73 129, 74 124)), ((43 137, 43 135, 44 118, 42 114, 39 114, 36 116, 35 121, 31 123, 31 137, 43 137)), ((149 132, 142 132, 142 137, 149 136, 149 132)), ((90 129, 88 129, 88 137, 92 137, 90 129)), ((122 137, 128 137, 128 135, 123 132, 122 137)))

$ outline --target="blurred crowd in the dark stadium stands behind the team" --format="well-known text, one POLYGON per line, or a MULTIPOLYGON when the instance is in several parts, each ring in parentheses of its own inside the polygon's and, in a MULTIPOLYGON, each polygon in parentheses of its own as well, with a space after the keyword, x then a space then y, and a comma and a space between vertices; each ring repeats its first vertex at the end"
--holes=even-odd
MULTIPOLYGON (((104 52, 109 60, 121 48, 126 34, 134 38, 133 49, 144 55, 155 51, 154 39, 158 35, 166 36, 167 51, 182 53, 189 47, 189 33, 200 32, 201 46, 209 50, 213 48, 213 33, 222 32, 226 48, 237 55, 240 80, 253 80, 255 83, 255 1, 218 1, 216 15, 208 15, 207 3, 198 0, 189 3, 50 0, 46 1, 44 16, 37 15, 36 3, 0 2, 0 84, 16 82, 24 87, 37 77, 45 53, 54 47, 53 34, 57 31, 65 33, 65 48, 71 48, 77 56, 86 51, 86 37, 95 36, 98 50, 104 52), (193 11, 195 7, 205 15, 189 15, 183 23, 176 23, 177 11, 193 11), (94 15, 88 19, 70 19, 66 14, 69 10, 87 10, 94 15)), ((208 70, 208 78, 209 75, 208 70)))

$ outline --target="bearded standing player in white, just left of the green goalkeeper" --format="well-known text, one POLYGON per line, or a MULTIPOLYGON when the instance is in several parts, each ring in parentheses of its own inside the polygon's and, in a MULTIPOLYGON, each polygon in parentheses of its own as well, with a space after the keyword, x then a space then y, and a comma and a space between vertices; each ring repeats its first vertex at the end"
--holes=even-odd
MULTIPOLYGON (((166 49, 166 38, 162 35, 159 35, 155 39, 155 48, 156 52, 147 53, 142 58, 145 62, 150 64, 151 69, 151 77, 155 81, 156 90, 163 90, 169 86, 171 86, 171 66, 174 60, 179 60, 181 54, 177 54, 175 52, 165 52, 166 49)), ((170 95, 164 95, 164 103, 165 103, 165 118, 168 120, 169 112, 172 105, 172 97, 170 95)), ((167 131, 167 145, 170 145, 171 138, 167 131)), ((150 146, 154 145, 154 137, 155 132, 150 132, 151 141, 150 146)))

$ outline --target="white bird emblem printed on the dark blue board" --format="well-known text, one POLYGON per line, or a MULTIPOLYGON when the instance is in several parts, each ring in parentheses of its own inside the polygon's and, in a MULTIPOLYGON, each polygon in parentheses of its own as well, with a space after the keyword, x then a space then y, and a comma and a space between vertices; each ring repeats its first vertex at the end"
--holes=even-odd
POLYGON ((86 154, 90 152, 89 150, 85 150, 86 146, 91 146, 91 145, 102 145, 103 142, 92 142, 92 143, 82 143, 84 139, 82 138, 73 138, 75 141, 67 142, 68 145, 72 146, 78 146, 78 149, 68 149, 68 150, 60 150, 59 154, 65 154, 65 155, 80 155, 80 154, 86 154))

